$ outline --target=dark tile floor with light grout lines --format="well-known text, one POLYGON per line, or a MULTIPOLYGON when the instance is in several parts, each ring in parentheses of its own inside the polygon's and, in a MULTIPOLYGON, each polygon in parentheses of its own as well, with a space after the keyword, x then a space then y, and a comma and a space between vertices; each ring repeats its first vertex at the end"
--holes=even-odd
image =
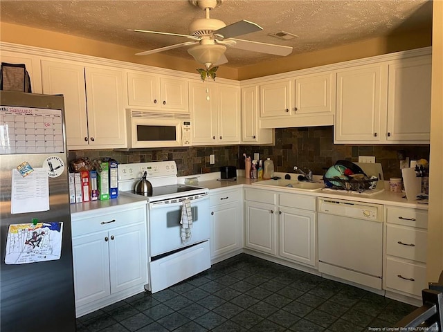
POLYGON ((369 331, 415 306, 241 254, 159 293, 78 318, 77 331, 369 331))

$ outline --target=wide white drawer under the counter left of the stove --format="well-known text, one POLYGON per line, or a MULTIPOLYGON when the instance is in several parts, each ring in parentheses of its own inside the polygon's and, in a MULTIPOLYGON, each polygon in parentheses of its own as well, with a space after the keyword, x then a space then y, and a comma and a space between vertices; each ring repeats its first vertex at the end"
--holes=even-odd
MULTIPOLYGON (((117 209, 116 209, 117 210, 117 209)), ((108 210, 109 211, 109 210, 108 210)), ((91 216, 81 219, 72 219, 72 236, 109 230, 111 228, 133 225, 146 221, 146 208, 118 209, 116 212, 108 212, 100 216, 91 216)))

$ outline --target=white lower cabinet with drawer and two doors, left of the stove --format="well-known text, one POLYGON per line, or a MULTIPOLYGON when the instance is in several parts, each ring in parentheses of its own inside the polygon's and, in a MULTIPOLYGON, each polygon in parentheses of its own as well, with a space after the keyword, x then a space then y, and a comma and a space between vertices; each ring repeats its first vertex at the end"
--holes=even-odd
POLYGON ((140 293, 147 284, 145 205, 91 213, 72 216, 77 317, 140 293))

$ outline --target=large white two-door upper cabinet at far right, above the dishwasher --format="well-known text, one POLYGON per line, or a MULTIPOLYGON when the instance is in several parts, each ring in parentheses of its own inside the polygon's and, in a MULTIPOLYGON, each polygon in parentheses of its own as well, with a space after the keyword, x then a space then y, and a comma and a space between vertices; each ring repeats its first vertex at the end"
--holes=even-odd
POLYGON ((428 143, 431 55, 338 71, 334 131, 337 143, 428 143))

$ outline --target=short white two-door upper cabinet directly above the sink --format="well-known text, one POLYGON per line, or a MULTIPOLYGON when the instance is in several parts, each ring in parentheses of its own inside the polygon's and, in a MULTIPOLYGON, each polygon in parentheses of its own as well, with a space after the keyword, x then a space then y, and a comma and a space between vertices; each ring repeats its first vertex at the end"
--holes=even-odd
POLYGON ((260 84, 260 127, 331 125, 335 92, 335 72, 332 71, 260 84))

